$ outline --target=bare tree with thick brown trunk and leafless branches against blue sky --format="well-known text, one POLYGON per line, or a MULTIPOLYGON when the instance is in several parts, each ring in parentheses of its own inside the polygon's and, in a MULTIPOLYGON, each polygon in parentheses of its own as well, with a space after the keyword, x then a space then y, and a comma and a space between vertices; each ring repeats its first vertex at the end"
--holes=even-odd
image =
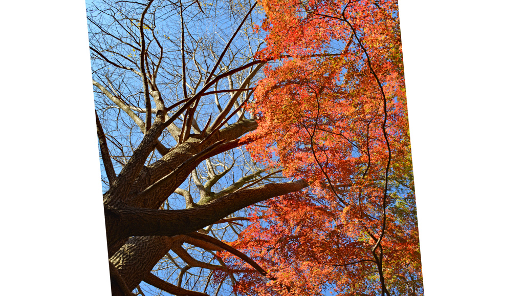
POLYGON ((257 166, 243 148, 257 128, 246 104, 267 62, 255 59, 260 17, 249 0, 88 8, 114 295, 234 293, 220 250, 266 275, 222 242, 244 227, 246 207, 307 186, 257 166), (214 270, 227 282, 210 283, 214 270))

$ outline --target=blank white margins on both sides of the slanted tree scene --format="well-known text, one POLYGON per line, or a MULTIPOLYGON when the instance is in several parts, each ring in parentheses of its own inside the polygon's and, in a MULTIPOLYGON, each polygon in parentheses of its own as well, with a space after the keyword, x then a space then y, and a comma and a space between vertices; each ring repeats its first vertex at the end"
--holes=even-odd
MULTIPOLYGON (((426 296, 524 294, 523 8, 400 1, 426 296)), ((110 295, 84 2, 2 11, 2 294, 110 295)))

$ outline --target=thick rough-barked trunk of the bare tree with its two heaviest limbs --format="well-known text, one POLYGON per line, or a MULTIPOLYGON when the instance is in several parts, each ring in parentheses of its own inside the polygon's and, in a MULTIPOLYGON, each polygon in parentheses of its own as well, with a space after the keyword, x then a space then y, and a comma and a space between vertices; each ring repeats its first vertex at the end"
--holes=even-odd
MULTIPOLYGON (((256 129, 256 126, 253 120, 241 121, 221 130, 204 143, 200 142, 201 139, 189 138, 154 164, 143 167, 129 189, 129 195, 119 198, 121 202, 105 203, 110 261, 129 290, 144 280, 173 244, 179 243, 178 235, 214 224, 249 205, 307 186, 302 180, 266 184, 226 194, 193 208, 158 210, 201 161, 242 145, 236 139, 256 129), (222 144, 212 147, 209 153, 205 151, 218 141, 222 144), (201 153, 204 153, 202 157, 195 158, 201 153), (172 172, 176 174, 170 175, 172 172)), ((106 196, 106 200, 110 199, 106 196)), ((113 295, 125 294, 115 281, 112 281, 112 291, 113 295)))

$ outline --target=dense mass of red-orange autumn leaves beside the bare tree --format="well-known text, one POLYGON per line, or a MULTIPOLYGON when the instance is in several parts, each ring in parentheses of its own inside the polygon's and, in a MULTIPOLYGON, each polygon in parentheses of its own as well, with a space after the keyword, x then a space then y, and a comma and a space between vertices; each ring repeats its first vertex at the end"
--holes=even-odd
MULTIPOLYGON (((284 58, 266 67, 256 88, 258 140, 248 149, 255 161, 310 187, 268 201, 257 213, 265 218, 253 219, 233 243, 276 279, 247 272, 236 288, 258 295, 321 294, 329 287, 345 295, 380 293, 371 250, 373 237, 383 235, 388 291, 422 294, 397 3, 262 5, 268 36, 258 58, 284 58)), ((250 269, 222 256, 232 269, 250 269)))

